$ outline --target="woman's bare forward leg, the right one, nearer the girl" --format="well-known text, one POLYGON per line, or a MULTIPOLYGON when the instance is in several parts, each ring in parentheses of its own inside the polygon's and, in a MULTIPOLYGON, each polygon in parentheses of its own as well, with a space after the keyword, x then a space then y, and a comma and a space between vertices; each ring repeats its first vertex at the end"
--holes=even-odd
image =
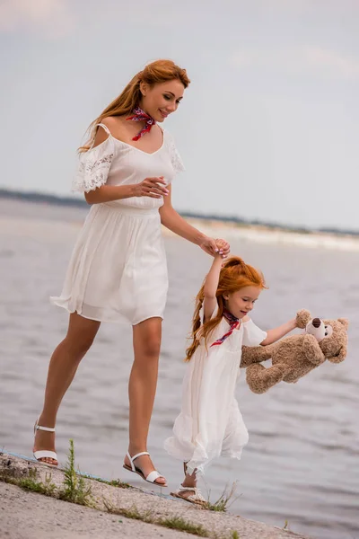
MULTIPOLYGON (((129 396, 129 446, 133 456, 147 451, 147 436, 156 393, 158 360, 162 338, 162 318, 154 317, 138 323, 133 328, 135 360, 128 384, 129 396)), ((126 456, 125 463, 129 465, 126 456)), ((146 477, 154 466, 149 456, 139 456, 136 466, 146 477)), ((165 484, 163 478, 156 480, 165 484)))

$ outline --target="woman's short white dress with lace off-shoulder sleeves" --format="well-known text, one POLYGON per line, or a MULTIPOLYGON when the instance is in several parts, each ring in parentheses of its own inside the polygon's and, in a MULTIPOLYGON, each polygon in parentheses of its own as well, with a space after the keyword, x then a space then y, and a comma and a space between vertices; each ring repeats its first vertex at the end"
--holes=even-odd
MULTIPOLYGON (((73 190, 140 183, 184 170, 173 139, 163 131, 153 154, 109 137, 80 156, 73 190)), ((132 197, 94 204, 74 246, 61 296, 51 302, 100 322, 163 318, 168 277, 159 208, 163 199, 132 197)))

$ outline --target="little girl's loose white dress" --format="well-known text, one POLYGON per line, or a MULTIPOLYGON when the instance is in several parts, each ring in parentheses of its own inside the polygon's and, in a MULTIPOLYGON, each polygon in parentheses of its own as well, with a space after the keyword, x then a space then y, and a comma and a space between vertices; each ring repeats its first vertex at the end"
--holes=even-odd
MULTIPOLYGON (((212 318, 215 317, 217 308, 212 318)), ((203 309, 201 319, 203 323, 203 309)), ((241 416, 234 392, 240 376, 241 347, 258 346, 266 339, 251 320, 241 323, 221 345, 211 348, 223 337, 229 324, 222 321, 207 340, 204 339, 186 365, 182 388, 182 409, 173 426, 173 436, 166 439, 167 452, 188 463, 188 473, 197 475, 215 457, 241 458, 248 442, 248 430, 241 416)))

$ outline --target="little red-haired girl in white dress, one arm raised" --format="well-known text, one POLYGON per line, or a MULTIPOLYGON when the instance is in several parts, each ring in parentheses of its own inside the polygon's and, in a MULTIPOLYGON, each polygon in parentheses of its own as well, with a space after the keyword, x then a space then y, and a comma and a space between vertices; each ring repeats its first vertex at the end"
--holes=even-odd
POLYGON ((248 431, 234 391, 240 374, 241 347, 267 345, 296 327, 295 319, 269 331, 260 330, 248 314, 263 288, 263 275, 241 258, 223 263, 215 256, 197 295, 182 410, 165 441, 168 453, 184 462, 185 479, 171 494, 204 503, 197 477, 217 456, 241 458, 248 431))

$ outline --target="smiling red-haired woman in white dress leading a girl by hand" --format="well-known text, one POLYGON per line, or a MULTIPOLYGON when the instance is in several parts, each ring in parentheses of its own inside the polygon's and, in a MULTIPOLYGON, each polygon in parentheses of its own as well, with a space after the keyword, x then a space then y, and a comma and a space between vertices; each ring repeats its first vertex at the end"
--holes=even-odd
MULTIPOLYGON (((35 425, 34 455, 46 464, 57 465, 57 410, 101 322, 125 318, 133 326, 135 359, 124 466, 166 486, 146 451, 168 287, 161 224, 211 255, 218 252, 215 240, 188 225, 171 206, 171 181, 183 164, 170 134, 158 124, 177 110, 188 84, 186 71, 170 60, 146 66, 92 123, 89 143, 80 148, 74 190, 84 192, 92 208, 62 294, 51 298, 70 317, 66 338, 50 360, 44 407, 35 425)), ((228 252, 224 243, 223 257, 228 252)))

